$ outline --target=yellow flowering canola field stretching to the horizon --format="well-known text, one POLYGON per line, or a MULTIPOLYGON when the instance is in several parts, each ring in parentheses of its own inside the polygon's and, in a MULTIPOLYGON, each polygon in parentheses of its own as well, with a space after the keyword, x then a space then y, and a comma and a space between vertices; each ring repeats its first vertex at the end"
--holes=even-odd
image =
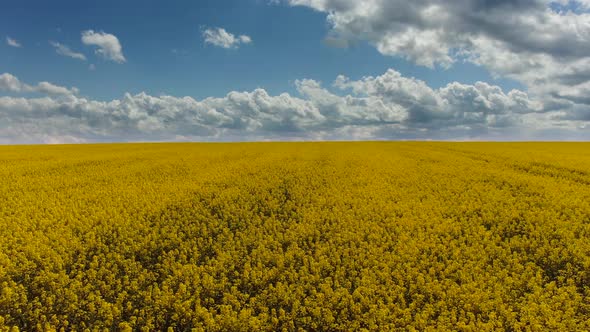
POLYGON ((590 143, 0 147, 0 331, 590 330, 590 143))

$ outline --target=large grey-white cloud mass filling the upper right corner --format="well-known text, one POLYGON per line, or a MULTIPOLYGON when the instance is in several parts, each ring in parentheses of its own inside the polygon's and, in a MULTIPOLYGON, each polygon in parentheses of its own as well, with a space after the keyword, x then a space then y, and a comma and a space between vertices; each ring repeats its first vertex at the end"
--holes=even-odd
POLYGON ((327 15, 329 38, 364 40, 427 67, 470 61, 537 98, 588 105, 588 0, 283 0, 327 15))

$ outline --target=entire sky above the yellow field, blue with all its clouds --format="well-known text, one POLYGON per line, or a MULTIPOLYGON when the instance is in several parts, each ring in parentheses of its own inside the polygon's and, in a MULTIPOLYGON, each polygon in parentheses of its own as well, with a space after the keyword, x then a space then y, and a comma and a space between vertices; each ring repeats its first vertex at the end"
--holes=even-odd
POLYGON ((590 139, 590 0, 20 0, 0 38, 0 144, 590 139))

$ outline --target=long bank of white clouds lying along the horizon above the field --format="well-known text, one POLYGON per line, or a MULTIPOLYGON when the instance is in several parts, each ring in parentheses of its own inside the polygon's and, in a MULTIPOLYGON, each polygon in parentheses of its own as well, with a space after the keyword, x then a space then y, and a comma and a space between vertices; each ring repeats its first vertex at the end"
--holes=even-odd
POLYGON ((126 93, 99 101, 6 73, 0 90, 41 96, 0 97, 0 142, 590 138, 590 108, 543 104, 482 82, 433 89, 390 69, 339 76, 331 88, 309 79, 295 85, 299 96, 256 89, 203 100, 126 93))

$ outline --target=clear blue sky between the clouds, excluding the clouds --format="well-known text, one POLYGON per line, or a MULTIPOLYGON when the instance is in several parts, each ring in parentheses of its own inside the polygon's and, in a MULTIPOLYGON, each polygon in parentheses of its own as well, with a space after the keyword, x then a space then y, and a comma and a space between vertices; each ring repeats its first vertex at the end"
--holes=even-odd
POLYGON ((84 95, 110 100, 123 92, 176 96, 223 96, 229 91, 262 87, 273 94, 296 94, 293 82, 309 78, 331 83, 337 75, 379 75, 395 68, 432 87, 452 81, 492 81, 506 89, 522 88, 508 79, 494 80, 485 68, 457 63, 430 69, 400 57, 385 56, 366 42, 343 49, 328 46, 326 14, 304 7, 269 5, 262 0, 31 1, 2 5, 0 31, 22 48, 2 45, 0 64, 23 81, 49 80, 76 86, 84 95), (223 49, 206 45, 204 27, 247 34, 252 45, 223 49), (93 29, 116 35, 127 62, 105 61, 82 45, 80 32, 93 29), (86 54, 78 61, 55 53, 57 41, 86 54), (89 64, 96 66, 89 71, 89 64))

